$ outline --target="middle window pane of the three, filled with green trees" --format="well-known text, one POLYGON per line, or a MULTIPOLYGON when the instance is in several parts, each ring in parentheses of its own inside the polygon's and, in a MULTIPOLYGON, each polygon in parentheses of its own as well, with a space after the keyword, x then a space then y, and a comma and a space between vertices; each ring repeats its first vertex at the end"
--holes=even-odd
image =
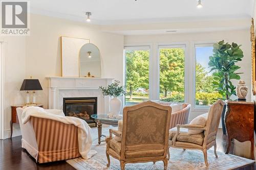
POLYGON ((185 45, 159 46, 160 100, 184 102, 185 45))

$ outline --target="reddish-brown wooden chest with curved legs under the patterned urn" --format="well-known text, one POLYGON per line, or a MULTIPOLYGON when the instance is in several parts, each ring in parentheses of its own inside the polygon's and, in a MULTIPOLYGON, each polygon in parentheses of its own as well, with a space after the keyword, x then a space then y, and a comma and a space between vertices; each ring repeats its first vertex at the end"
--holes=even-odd
POLYGON ((225 124, 229 153, 232 139, 251 142, 250 157, 254 159, 254 102, 227 102, 225 124))

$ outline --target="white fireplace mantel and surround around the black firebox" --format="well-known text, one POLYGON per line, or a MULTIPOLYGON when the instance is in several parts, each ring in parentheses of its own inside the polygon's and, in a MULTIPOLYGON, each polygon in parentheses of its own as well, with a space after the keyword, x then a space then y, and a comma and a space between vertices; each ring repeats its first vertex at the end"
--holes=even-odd
POLYGON ((112 78, 47 77, 49 109, 63 109, 63 98, 97 97, 98 114, 109 112, 109 97, 102 96, 99 86, 108 86, 112 78))

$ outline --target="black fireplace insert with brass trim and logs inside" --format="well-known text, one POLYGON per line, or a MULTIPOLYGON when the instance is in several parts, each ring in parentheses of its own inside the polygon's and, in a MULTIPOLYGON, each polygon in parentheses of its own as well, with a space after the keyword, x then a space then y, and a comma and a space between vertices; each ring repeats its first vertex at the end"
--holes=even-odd
POLYGON ((96 127, 91 115, 97 114, 97 98, 63 98, 63 112, 85 120, 91 128, 96 127))

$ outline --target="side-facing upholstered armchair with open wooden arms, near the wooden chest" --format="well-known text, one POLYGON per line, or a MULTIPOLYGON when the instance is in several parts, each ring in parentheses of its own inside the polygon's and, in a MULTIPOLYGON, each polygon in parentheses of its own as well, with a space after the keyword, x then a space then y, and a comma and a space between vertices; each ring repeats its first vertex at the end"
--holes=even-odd
POLYGON ((207 150, 214 147, 215 156, 218 157, 216 152, 216 135, 220 123, 221 113, 223 110, 224 102, 218 100, 214 103, 208 112, 208 117, 205 126, 200 125, 177 125, 170 130, 170 142, 168 146, 168 160, 170 158, 169 148, 182 148, 184 150, 201 150, 204 153, 205 165, 208 166, 207 150), (190 134, 189 130, 201 130, 201 133, 190 134))

